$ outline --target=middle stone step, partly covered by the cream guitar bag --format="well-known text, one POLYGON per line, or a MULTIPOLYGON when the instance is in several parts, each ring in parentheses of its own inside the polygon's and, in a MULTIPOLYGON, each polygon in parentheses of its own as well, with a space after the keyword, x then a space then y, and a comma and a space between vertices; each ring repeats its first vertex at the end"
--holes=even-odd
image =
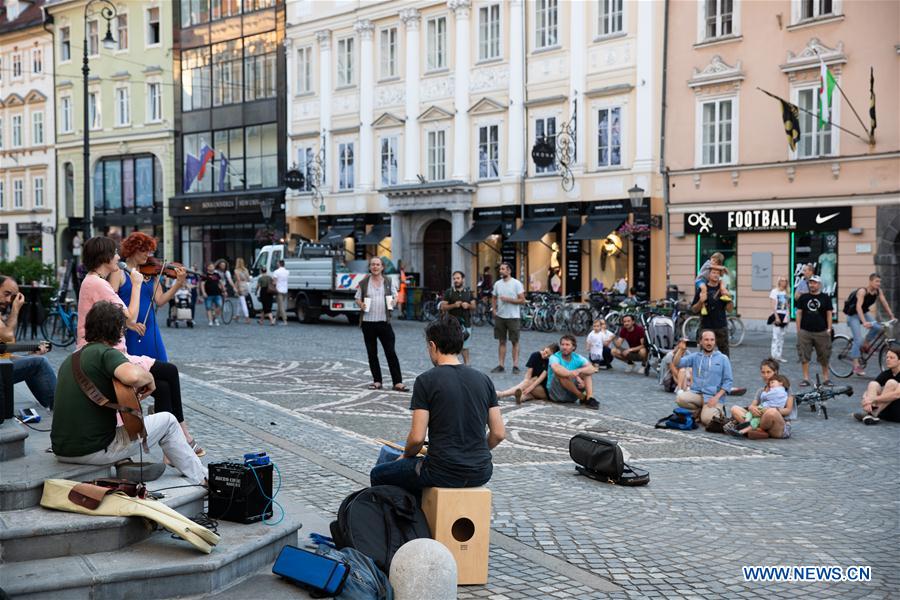
MULTIPOLYGON (((150 490, 187 485, 177 470, 148 484, 150 490)), ((188 517, 203 512, 206 490, 168 489, 161 502, 188 517)), ((0 513, 0 564, 118 550, 151 534, 143 519, 81 515, 40 506, 0 513)))

